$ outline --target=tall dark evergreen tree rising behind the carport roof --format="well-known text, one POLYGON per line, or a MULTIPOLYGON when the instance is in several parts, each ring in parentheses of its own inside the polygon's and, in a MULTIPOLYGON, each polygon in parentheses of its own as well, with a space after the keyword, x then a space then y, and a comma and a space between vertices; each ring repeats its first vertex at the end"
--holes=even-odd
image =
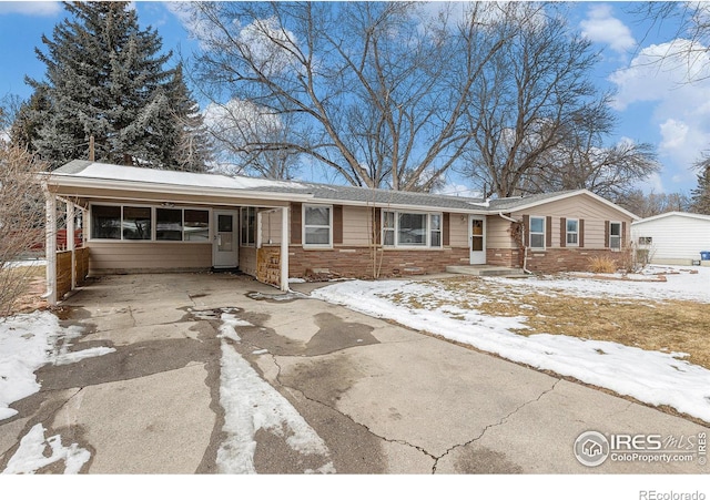
POLYGON ((36 49, 45 81, 28 79, 48 103, 29 111, 40 156, 52 167, 87 159, 93 135, 98 161, 204 170, 209 150, 197 105, 184 82, 175 91, 182 70, 164 69, 172 52, 161 54, 158 32, 141 30, 128 2, 64 7, 71 19, 54 28, 53 40, 42 37, 47 53, 36 49), (191 133, 200 161, 185 164, 178 144, 191 133))

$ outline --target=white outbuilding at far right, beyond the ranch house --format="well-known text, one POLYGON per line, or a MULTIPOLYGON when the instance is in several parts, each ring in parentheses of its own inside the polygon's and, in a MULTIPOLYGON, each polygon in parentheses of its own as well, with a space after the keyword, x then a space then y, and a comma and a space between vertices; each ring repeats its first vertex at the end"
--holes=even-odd
POLYGON ((650 264, 710 266, 710 215, 669 212, 631 224, 637 252, 650 264), (701 254, 703 253, 703 254, 701 254))

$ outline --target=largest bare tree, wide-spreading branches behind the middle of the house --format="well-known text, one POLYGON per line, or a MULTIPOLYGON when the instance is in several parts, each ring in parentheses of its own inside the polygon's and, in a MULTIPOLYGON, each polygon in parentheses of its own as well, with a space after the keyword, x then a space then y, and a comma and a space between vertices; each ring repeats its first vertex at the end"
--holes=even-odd
POLYGON ((197 80, 215 102, 251 101, 290 123, 245 154, 300 154, 353 185, 426 191, 469 145, 471 91, 517 24, 491 28, 515 3, 195 3, 197 80))

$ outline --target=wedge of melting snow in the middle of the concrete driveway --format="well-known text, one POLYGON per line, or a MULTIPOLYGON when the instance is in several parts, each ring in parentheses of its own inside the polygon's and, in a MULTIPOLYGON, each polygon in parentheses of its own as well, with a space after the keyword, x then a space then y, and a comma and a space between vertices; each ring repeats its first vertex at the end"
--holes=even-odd
POLYGON ((321 437, 276 389, 266 382, 231 345, 241 339, 235 328, 252 326, 225 309, 221 315, 222 339, 220 404, 224 408, 225 440, 217 450, 217 467, 224 473, 255 473, 255 435, 260 429, 286 437, 286 445, 323 463, 306 472, 335 472, 321 437))

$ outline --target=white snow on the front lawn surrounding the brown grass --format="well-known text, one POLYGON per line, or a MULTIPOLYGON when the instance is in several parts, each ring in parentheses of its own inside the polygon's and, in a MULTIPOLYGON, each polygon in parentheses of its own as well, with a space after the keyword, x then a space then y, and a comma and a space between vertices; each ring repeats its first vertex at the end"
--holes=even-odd
MULTIPOLYGON (((518 279, 516 293, 567 294, 647 300, 689 299, 710 303, 710 268, 679 269, 666 283, 605 282, 575 277, 518 279)), ((507 278, 484 278, 506 283, 507 278)), ((312 296, 375 317, 394 319, 452 340, 495 353, 539 369, 575 377, 651 405, 669 405, 710 422, 710 370, 682 360, 683 354, 660 353, 610 341, 564 335, 513 333, 525 329, 524 316, 495 317, 457 306, 456 294, 435 282, 346 282, 314 290, 312 296), (422 297, 408 306, 400 297, 422 297), (447 304, 448 302, 448 304, 447 304)), ((481 297, 486 300, 487 297, 481 297)))

